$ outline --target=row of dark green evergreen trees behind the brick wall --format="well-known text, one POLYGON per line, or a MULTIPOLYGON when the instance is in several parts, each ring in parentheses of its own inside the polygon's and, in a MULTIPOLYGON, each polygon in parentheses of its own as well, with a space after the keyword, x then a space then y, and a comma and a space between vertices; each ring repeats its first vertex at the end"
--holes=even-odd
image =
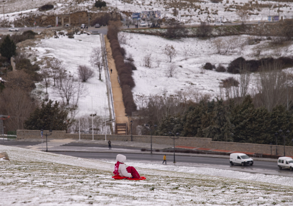
POLYGON ((271 112, 265 107, 256 108, 249 95, 240 104, 222 99, 201 101, 190 106, 184 115, 166 117, 154 132, 169 135, 171 131, 180 136, 214 141, 274 145, 276 136, 278 145, 284 144, 285 136, 285 144, 292 146, 292 113, 293 108, 282 105, 271 112))

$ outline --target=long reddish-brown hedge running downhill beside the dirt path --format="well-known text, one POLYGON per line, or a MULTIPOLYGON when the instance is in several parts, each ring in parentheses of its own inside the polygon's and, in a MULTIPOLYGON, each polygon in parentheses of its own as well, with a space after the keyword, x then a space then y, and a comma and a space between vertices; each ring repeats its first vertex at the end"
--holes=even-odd
POLYGON ((110 41, 110 47, 112 49, 112 56, 115 62, 115 66, 118 73, 120 86, 122 88, 122 97, 125 107, 125 113, 131 116, 133 111, 136 111, 137 107, 134 103, 131 89, 135 86, 132 78, 132 68, 124 63, 125 50, 120 47, 118 42, 119 26, 117 22, 111 22, 108 26, 107 38, 110 41))

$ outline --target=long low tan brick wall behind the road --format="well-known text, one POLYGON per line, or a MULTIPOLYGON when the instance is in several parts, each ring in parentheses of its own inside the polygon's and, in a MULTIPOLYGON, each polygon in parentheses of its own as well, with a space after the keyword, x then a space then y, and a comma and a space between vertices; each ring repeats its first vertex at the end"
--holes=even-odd
MULTIPOLYGON (((44 138, 46 138, 46 132, 44 131, 44 138)), ((54 139, 79 139, 79 134, 67 134, 65 131, 53 131, 52 135, 48 136, 54 139)), ((36 130, 17 130, 17 139, 37 139, 41 138, 41 132, 36 130)), ((92 134, 81 134, 81 139, 92 139, 92 134)), ((95 140, 105 139, 105 135, 95 135, 95 140)), ((119 141, 131 141, 131 135, 107 135, 107 140, 119 140, 119 141)), ((150 143, 151 137, 144 135, 133 135, 132 140, 136 142, 150 143)), ((152 136, 152 143, 173 145, 173 138, 166 136, 152 136)), ((212 141, 211 138, 196 138, 196 137, 179 137, 175 139, 175 146, 188 146, 188 147, 202 147, 209 149, 219 150, 231 150, 238 152, 251 152, 261 154, 276 154, 276 145, 261 145, 261 144, 250 144, 250 143, 234 143, 234 142, 216 142, 212 141)), ((284 145, 277 146, 278 154, 284 154, 284 145)), ((293 147, 285 147, 286 156, 293 156, 293 147)))

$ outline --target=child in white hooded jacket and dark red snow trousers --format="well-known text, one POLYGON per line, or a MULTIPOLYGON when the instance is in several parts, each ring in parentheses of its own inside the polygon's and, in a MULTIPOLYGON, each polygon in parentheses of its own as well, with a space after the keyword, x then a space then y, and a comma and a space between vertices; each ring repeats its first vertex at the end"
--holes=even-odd
POLYGON ((126 157, 122 154, 117 154, 116 156, 116 161, 117 163, 115 164, 115 169, 113 173, 115 175, 120 175, 120 176, 125 176, 125 177, 130 177, 130 178, 140 178, 138 172, 136 169, 132 166, 126 167, 126 164, 124 164, 126 160, 126 157))

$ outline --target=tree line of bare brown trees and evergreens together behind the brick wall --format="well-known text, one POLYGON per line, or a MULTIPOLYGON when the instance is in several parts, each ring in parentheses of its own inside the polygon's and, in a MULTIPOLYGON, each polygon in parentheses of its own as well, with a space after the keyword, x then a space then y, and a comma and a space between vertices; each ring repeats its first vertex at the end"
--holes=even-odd
MULTIPOLYGON (((264 106, 255 107, 250 95, 239 103, 235 99, 217 98, 212 101, 202 98, 198 103, 182 102, 177 97, 149 97, 136 122, 153 126, 153 135, 178 133, 183 137, 255 144, 275 144, 275 133, 280 129, 289 130, 289 134, 278 134, 277 144, 282 145, 280 135, 286 135, 285 144, 292 146, 292 106, 287 109, 285 105, 276 105, 269 111, 264 106), (142 115, 145 116, 142 118, 142 115)), ((149 132, 143 126, 142 133, 149 132)))

